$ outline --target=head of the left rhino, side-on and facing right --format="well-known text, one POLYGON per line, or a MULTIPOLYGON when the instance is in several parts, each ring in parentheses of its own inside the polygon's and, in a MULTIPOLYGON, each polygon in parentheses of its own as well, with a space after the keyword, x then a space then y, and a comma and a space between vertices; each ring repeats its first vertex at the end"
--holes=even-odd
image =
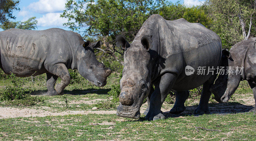
POLYGON ((94 55, 93 48, 97 48, 102 42, 91 43, 87 41, 83 44, 81 51, 78 51, 77 69, 85 79, 95 86, 103 87, 107 83, 107 77, 111 74, 111 69, 98 62, 94 55))

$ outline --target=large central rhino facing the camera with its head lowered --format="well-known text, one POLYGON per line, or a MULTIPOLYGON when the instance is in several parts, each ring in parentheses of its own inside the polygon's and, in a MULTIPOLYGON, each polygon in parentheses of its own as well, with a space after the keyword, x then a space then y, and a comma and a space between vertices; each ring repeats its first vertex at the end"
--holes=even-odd
POLYGON ((181 113, 186 109, 188 90, 202 84, 203 92, 195 113, 210 112, 209 88, 217 74, 197 75, 197 68, 216 68, 220 64, 221 40, 217 34, 199 23, 185 19, 168 21, 154 14, 143 23, 131 44, 119 35, 116 45, 125 50, 118 116, 139 118, 140 106, 147 98, 145 118, 164 119, 161 107, 170 90, 175 90, 176 95, 170 113, 181 113), (185 74, 187 65, 195 69, 194 74, 185 74))

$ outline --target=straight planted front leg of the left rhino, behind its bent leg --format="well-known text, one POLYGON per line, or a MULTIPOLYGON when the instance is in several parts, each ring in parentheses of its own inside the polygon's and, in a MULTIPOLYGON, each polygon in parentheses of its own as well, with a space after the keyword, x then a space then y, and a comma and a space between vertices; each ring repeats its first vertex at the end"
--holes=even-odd
POLYGON ((46 76, 47 76, 46 87, 48 89, 46 94, 48 96, 55 96, 55 95, 57 95, 58 93, 54 89, 54 86, 55 86, 55 83, 56 83, 56 80, 57 80, 58 76, 50 74, 50 73, 46 73, 46 76))

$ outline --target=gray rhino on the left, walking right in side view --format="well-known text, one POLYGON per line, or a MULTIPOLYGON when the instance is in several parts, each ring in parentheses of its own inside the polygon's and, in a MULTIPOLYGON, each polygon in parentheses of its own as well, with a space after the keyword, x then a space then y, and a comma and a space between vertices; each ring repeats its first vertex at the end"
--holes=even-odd
POLYGON ((0 32, 0 68, 19 77, 46 73, 47 94, 63 94, 70 82, 68 69, 101 87, 111 69, 95 58, 93 48, 101 42, 84 42, 81 35, 59 28, 42 31, 9 29, 0 32), (55 86, 57 78, 61 83, 55 86), (55 89, 54 89, 55 86, 55 89))

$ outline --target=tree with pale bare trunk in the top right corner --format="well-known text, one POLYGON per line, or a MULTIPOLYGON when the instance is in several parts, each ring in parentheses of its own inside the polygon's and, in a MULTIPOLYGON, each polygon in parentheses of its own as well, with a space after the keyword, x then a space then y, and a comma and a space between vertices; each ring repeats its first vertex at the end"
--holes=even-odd
POLYGON ((207 1, 213 19, 211 29, 220 36, 224 48, 230 48, 250 35, 255 36, 256 28, 251 28, 255 23, 255 1, 248 3, 248 0, 247 3, 243 0, 207 1))

